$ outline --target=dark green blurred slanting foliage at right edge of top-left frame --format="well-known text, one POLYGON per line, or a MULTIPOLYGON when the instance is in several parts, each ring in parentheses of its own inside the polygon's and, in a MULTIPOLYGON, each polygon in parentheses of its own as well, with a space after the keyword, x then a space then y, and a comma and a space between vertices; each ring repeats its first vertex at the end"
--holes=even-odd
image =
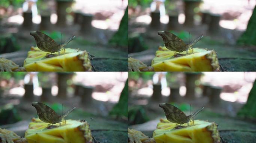
POLYGON ((109 44, 125 47, 127 51, 128 45, 128 7, 125 10, 125 14, 120 22, 118 31, 109 39, 109 44))

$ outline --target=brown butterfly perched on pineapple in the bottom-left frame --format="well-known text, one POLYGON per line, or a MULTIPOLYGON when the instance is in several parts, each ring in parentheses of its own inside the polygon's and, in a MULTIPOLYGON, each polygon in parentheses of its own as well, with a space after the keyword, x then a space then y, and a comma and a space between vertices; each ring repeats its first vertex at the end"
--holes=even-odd
POLYGON ((32 102, 32 106, 36 108, 37 115, 40 120, 45 123, 55 124, 64 121, 64 118, 72 112, 76 107, 65 112, 63 115, 58 115, 51 107, 40 103, 40 102, 32 102))

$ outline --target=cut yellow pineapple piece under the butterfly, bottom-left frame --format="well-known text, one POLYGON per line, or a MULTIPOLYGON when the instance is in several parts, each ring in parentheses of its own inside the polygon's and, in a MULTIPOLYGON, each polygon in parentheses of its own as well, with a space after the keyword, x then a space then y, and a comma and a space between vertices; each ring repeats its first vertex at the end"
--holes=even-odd
POLYGON ((39 118, 33 118, 25 132, 28 143, 92 143, 87 122, 65 120, 49 126, 39 118))

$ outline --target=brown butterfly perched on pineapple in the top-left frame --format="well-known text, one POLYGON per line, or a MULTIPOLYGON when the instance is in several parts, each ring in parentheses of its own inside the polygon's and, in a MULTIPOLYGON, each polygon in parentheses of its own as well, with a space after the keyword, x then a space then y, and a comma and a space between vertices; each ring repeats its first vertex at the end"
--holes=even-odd
POLYGON ((43 34, 42 32, 31 31, 30 35, 32 35, 35 38, 36 45, 40 50, 49 52, 49 53, 55 53, 58 51, 59 54, 60 54, 60 50, 75 38, 75 35, 73 35, 70 38, 68 38, 66 41, 62 42, 61 44, 58 44, 57 42, 54 41, 54 39, 52 39, 46 34, 43 34))

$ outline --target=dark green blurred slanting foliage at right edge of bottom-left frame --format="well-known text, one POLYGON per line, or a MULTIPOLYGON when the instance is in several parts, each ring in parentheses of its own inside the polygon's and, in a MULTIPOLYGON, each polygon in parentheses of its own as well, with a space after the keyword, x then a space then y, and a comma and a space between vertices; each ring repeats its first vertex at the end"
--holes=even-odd
POLYGON ((128 117, 128 79, 126 80, 124 89, 121 92, 119 102, 112 108, 109 115, 128 117))

